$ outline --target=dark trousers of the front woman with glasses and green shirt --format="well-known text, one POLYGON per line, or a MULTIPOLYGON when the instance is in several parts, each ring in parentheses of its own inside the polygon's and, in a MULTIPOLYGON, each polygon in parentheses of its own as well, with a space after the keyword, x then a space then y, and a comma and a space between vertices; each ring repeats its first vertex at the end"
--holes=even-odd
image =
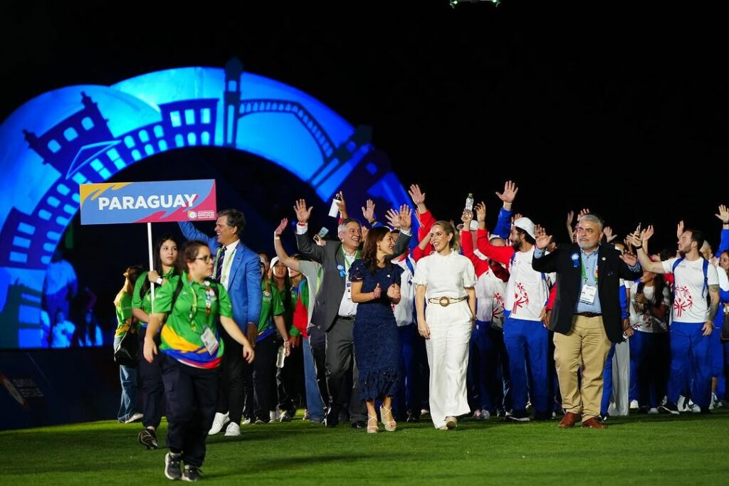
POLYGON ((200 467, 213 425, 219 369, 200 369, 160 353, 167 398, 167 447, 186 465, 200 467))

